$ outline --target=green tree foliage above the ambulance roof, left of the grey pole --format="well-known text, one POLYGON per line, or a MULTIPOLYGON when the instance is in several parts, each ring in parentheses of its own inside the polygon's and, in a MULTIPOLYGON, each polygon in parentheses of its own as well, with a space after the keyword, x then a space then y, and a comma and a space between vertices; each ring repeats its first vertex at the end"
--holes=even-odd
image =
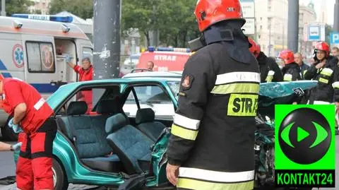
POLYGON ((93 0, 52 0, 49 14, 68 11, 83 19, 93 18, 93 0))

